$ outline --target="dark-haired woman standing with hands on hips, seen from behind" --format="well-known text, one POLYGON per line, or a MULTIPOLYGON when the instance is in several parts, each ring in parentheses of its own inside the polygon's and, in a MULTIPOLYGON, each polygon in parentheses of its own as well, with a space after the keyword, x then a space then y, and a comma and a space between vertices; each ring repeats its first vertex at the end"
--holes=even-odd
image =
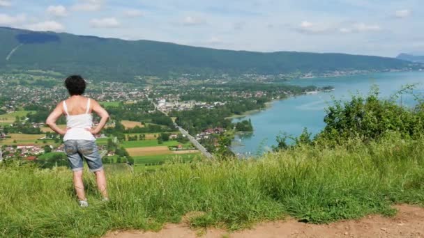
POLYGON ((70 168, 73 170, 73 183, 79 205, 88 207, 89 203, 87 203, 82 182, 83 157, 90 171, 96 174, 97 187, 103 195, 103 200, 109 200, 105 170, 103 170, 102 159, 98 153, 96 138, 93 136, 105 127, 109 114, 98 102, 82 96, 86 88, 86 83, 82 77, 78 75, 68 77, 65 86, 70 97, 56 106, 56 109, 47 118, 46 124, 54 132, 64 136, 65 152, 68 156, 70 168), (101 118, 96 128, 92 128, 92 111, 101 118), (62 115, 66 116, 66 129, 61 129, 56 125, 56 120, 62 115))

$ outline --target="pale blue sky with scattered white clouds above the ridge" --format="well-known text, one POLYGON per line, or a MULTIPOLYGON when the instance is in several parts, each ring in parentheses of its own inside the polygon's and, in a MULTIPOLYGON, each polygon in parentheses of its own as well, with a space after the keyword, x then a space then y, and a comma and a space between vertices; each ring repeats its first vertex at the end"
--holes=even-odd
POLYGON ((217 49, 424 54, 423 0, 0 0, 0 26, 217 49))

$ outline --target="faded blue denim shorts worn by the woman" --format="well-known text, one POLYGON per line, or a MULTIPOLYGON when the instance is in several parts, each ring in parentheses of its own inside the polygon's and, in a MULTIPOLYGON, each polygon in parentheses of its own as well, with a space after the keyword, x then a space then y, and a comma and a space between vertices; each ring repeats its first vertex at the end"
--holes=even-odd
POLYGON ((68 156, 70 168, 73 171, 82 170, 82 158, 86 160, 91 172, 103 170, 102 158, 98 153, 95 141, 68 140, 65 141, 65 153, 68 156))

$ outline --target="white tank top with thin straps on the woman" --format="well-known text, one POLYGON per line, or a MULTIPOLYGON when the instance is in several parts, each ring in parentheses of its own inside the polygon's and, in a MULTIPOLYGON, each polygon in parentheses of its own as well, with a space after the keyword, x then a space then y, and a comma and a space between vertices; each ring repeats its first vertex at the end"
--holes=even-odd
POLYGON ((63 141, 68 140, 86 140, 86 141, 96 141, 96 138, 89 132, 87 129, 93 127, 93 115, 89 113, 90 111, 90 99, 87 101, 87 109, 84 114, 79 115, 69 115, 68 106, 66 102, 63 101, 63 109, 66 112, 66 128, 68 131, 65 136, 63 136, 63 141))

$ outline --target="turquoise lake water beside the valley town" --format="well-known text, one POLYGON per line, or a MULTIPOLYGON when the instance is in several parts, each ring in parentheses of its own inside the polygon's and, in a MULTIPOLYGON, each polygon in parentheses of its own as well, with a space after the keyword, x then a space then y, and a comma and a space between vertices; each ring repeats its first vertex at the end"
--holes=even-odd
MULTIPOLYGON (((333 86, 331 93, 320 92, 301 95, 287 100, 272 102, 271 107, 244 118, 251 119, 255 131, 252 134, 237 135, 232 150, 240 154, 262 154, 276 144, 278 134, 287 132, 298 136, 304 127, 316 134, 324 128, 325 108, 331 104, 331 97, 348 100, 352 94, 367 94, 372 85, 377 85, 381 97, 390 97, 407 84, 418 84, 414 94, 424 95, 424 72, 391 72, 363 74, 347 77, 297 79, 289 84, 298 86, 333 86)), ((411 96, 402 96, 402 104, 414 104, 411 96)))

